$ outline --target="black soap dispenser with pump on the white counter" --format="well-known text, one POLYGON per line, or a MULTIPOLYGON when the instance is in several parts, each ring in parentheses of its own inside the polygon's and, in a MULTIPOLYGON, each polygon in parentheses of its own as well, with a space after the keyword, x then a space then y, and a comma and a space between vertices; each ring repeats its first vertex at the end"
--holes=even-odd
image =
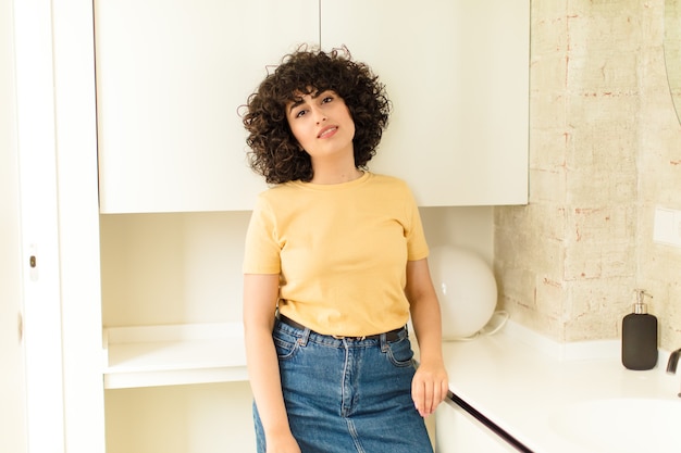
POLYGON ((636 289, 633 313, 622 320, 622 365, 629 369, 652 369, 657 364, 657 318, 647 313, 643 301, 652 297, 636 289))

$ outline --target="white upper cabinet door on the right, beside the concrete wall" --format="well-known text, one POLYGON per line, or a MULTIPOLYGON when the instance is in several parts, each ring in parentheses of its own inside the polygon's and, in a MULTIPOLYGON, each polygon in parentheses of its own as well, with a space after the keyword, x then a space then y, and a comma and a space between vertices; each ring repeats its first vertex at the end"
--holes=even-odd
POLYGON ((528 0, 322 0, 321 41, 386 84, 394 113, 370 167, 421 205, 528 200, 528 0))

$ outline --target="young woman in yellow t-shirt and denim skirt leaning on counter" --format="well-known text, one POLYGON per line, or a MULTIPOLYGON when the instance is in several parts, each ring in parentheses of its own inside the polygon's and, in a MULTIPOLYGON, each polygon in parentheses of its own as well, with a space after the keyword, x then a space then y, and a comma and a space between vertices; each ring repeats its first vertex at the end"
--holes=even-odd
POLYGON ((432 452, 423 417, 448 383, 428 244, 407 185, 367 169, 389 109, 347 50, 286 55, 248 99, 250 164, 273 185, 244 260, 258 452, 432 452))

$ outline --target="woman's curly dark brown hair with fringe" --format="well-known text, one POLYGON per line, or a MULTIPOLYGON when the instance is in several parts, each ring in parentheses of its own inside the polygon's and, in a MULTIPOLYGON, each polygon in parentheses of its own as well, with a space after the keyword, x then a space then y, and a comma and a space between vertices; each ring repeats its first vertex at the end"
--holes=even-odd
POLYGON ((312 179, 312 161, 300 152, 286 119, 286 104, 300 93, 325 90, 345 101, 355 122, 355 166, 366 169, 375 155, 392 108, 385 86, 369 66, 352 61, 346 48, 324 52, 301 47, 285 55, 250 95, 243 115, 248 162, 268 184, 312 179))

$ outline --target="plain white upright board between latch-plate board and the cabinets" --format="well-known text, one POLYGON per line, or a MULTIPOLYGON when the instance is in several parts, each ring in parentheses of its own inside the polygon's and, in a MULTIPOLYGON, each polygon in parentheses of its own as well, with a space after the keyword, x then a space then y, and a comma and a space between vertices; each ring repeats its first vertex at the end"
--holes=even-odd
POLYGON ((51 3, 65 444, 69 453, 103 453, 104 361, 92 1, 52 0, 51 3))

